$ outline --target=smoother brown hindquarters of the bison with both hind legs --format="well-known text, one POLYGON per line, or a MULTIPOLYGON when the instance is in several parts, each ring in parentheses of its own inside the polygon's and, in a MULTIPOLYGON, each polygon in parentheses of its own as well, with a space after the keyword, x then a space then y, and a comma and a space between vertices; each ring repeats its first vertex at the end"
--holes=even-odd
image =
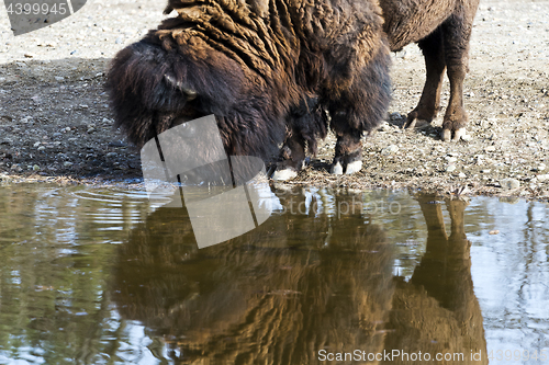
POLYGON ((408 114, 405 127, 417 121, 430 123, 440 106, 442 77, 450 79, 450 101, 442 123, 442 139, 466 134, 468 116, 463 109, 463 79, 468 72, 469 39, 479 0, 380 0, 384 31, 391 50, 417 42, 425 56, 427 79, 417 107, 408 114))

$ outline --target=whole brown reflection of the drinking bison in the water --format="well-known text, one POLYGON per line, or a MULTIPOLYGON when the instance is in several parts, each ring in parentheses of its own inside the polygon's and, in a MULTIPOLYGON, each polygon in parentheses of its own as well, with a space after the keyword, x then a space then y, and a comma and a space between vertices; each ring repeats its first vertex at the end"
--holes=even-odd
MULTIPOLYGON (((120 249, 113 297, 121 316, 142 321, 181 364, 316 364, 320 350, 485 356, 464 204, 449 202, 450 238, 441 220, 428 226, 428 252, 405 283, 392 276, 383 229, 358 206, 339 218, 322 212, 330 199, 358 202, 352 195, 277 195, 285 214, 202 250, 183 209, 152 214, 120 249)), ((421 203, 433 221, 440 207, 421 203)))

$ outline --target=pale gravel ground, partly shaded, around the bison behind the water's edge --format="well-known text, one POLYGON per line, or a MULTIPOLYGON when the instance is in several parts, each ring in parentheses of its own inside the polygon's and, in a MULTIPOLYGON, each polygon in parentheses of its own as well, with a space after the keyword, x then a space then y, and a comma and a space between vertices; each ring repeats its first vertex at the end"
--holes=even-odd
MULTIPOLYGON (((88 0, 75 15, 14 37, 0 10, 0 179, 138 181, 138 151, 113 130, 103 90, 109 60, 156 27, 164 1, 88 0), (130 179, 130 180, 128 180, 130 179)), ((292 184, 391 187, 549 201, 549 0, 482 1, 466 80, 468 141, 442 142, 442 114, 403 132, 419 100, 415 45, 393 55, 393 102, 365 140, 365 166, 329 175, 334 138, 292 184)), ((445 84, 442 105, 448 101, 445 84)))

